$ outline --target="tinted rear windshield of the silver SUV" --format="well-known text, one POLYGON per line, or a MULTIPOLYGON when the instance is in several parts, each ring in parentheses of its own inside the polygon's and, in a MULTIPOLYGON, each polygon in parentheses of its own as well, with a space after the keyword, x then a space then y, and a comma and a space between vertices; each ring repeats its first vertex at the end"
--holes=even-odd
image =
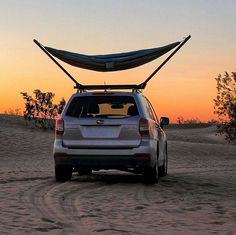
POLYGON ((79 118, 125 118, 138 115, 133 97, 130 96, 83 96, 75 97, 66 112, 79 118))

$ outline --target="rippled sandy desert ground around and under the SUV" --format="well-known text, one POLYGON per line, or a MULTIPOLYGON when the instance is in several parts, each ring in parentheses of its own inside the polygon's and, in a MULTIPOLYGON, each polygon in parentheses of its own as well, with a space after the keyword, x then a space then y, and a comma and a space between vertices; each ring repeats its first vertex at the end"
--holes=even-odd
POLYGON ((0 234, 236 234, 236 146, 168 128, 157 185, 119 171, 57 183, 53 133, 0 117, 0 234))

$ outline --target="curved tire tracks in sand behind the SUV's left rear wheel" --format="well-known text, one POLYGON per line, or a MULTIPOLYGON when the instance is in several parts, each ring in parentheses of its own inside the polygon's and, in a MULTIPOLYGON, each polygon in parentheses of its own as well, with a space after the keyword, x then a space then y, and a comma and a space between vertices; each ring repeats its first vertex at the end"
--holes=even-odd
POLYGON ((73 182, 56 183, 55 181, 40 181, 28 190, 24 190, 21 201, 28 205, 41 223, 36 231, 60 231, 60 234, 73 234, 81 232, 89 234, 84 228, 79 216, 75 215, 73 203, 68 201, 80 191, 87 191, 91 185, 74 184, 73 182))

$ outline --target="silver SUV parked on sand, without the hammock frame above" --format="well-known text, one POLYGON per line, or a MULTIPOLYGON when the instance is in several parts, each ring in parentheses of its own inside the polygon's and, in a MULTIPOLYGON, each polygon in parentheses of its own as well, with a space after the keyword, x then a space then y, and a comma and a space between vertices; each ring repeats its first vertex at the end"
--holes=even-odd
POLYGON ((146 183, 167 174, 167 140, 148 99, 132 92, 79 92, 70 98, 56 122, 55 176, 59 182, 72 172, 118 169, 143 174, 146 183))

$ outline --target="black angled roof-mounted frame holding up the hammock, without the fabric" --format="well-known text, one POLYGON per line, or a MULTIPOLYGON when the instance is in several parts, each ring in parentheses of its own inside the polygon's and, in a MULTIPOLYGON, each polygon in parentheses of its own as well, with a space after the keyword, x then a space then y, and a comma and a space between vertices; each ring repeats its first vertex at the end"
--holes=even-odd
POLYGON ((79 83, 59 62, 47 51, 47 49, 37 40, 33 40, 48 57, 75 83, 74 88, 78 91, 86 90, 142 90, 146 87, 147 83, 156 75, 156 73, 171 59, 171 57, 191 38, 191 35, 184 38, 184 40, 176 47, 176 49, 151 73, 151 75, 140 84, 121 84, 121 85, 82 85, 79 83))

